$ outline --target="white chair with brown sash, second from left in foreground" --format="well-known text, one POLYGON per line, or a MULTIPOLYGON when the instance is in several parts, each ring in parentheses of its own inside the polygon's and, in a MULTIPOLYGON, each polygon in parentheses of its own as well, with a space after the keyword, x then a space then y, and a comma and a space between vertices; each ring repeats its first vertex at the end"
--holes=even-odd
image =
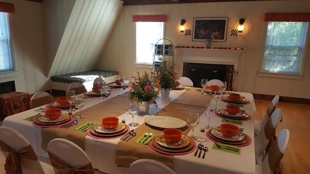
POLYGON ((87 154, 75 143, 63 139, 55 138, 47 145, 47 153, 55 173, 59 170, 70 168, 78 169, 79 174, 94 174, 93 166, 87 154))

